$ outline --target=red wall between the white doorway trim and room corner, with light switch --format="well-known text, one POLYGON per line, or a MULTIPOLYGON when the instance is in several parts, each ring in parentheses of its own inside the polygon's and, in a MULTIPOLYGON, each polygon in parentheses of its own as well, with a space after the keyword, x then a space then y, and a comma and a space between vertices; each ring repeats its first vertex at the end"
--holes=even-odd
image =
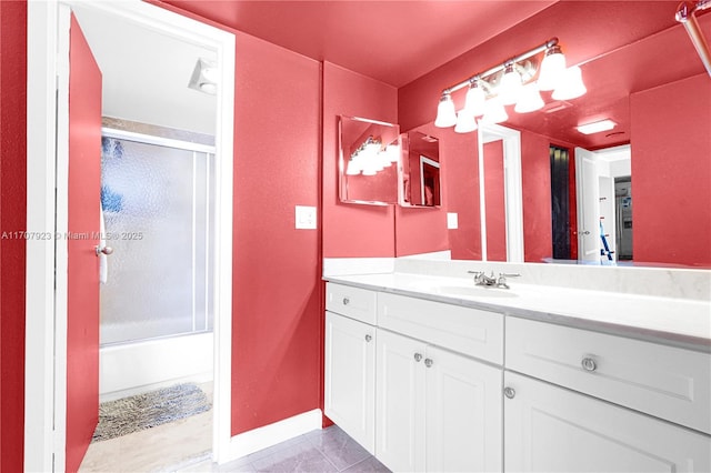
POLYGON ((232 434, 319 407, 320 64, 237 32, 232 434))

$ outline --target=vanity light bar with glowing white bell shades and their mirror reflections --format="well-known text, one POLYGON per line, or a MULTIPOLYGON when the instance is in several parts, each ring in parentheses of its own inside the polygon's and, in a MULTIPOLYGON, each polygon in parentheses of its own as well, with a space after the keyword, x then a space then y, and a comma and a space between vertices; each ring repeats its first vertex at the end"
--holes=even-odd
POLYGON ((565 67, 558 38, 442 90, 434 125, 455 127, 454 131, 465 133, 477 130, 477 117, 483 115, 479 119, 482 122, 501 123, 509 119, 504 105, 515 105, 517 113, 540 110, 544 105, 540 91, 551 90, 555 100, 572 100, 587 92, 580 68, 565 67), (543 51, 537 68, 533 57, 543 51), (458 113, 452 93, 465 87, 464 107, 458 113))

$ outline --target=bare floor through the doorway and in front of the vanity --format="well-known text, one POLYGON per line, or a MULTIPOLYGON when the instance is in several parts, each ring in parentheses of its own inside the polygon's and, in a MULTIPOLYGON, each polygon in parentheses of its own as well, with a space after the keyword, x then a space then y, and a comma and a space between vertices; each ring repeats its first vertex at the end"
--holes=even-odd
MULTIPOLYGON (((201 385, 211 396, 212 385, 201 385)), ((212 411, 94 442, 81 473, 389 472, 337 425, 316 430, 223 465, 212 463, 212 411)))

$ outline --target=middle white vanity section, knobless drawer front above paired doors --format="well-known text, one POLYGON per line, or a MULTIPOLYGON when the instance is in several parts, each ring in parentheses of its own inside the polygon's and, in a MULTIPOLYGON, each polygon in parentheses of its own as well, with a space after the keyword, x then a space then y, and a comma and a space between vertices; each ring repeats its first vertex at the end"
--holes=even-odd
POLYGON ((501 471, 502 371, 461 351, 500 360, 502 324, 497 313, 378 294, 375 456, 385 466, 501 471))

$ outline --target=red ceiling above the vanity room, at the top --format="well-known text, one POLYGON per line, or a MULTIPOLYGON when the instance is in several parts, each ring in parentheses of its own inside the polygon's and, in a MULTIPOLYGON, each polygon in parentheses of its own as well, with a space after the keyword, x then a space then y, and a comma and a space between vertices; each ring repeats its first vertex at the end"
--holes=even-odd
POLYGON ((555 1, 164 0, 319 61, 401 87, 555 1))

